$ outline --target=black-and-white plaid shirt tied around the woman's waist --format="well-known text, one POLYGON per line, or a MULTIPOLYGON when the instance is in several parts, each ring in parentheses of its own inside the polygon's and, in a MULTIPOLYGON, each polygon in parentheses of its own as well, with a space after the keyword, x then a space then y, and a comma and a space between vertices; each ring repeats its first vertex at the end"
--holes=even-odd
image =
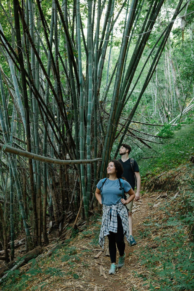
POLYGON ((122 202, 117 203, 116 205, 103 205, 103 215, 102 215, 102 226, 100 229, 99 235, 99 245, 104 249, 104 240, 105 236, 110 234, 110 231, 117 233, 117 212, 122 220, 123 233, 129 241, 129 220, 128 220, 128 211, 127 208, 122 202), (110 219, 110 210, 112 209, 111 219, 110 219))

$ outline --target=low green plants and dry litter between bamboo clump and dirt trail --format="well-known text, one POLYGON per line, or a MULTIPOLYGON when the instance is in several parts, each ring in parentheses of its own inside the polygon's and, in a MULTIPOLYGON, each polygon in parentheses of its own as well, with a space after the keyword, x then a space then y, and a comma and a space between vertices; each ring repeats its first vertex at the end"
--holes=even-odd
MULTIPOLYGON (((79 240, 84 239, 89 235, 92 236, 91 248, 98 244, 99 238, 99 224, 96 223, 96 219, 99 215, 91 218, 92 226, 95 227, 95 232, 89 228, 79 233, 79 240)), ((72 239, 77 239, 77 231, 73 231, 72 239)), ((72 239, 66 239, 63 244, 58 244, 52 255, 47 258, 43 258, 37 261, 35 258, 29 261, 30 265, 27 271, 23 273, 21 270, 8 271, 8 276, 2 280, 0 291, 21 291, 25 290, 29 283, 35 281, 42 276, 39 284, 33 286, 30 290, 44 290, 49 287, 47 278, 53 277, 56 283, 63 277, 72 277, 74 279, 80 279, 82 274, 77 271, 77 264, 81 263, 81 266, 88 267, 87 263, 83 263, 83 255, 91 253, 88 249, 83 249, 81 252, 77 252, 77 248, 71 245, 72 239), (59 267, 60 265, 60 267, 59 267), (64 268, 68 266, 68 268, 64 268), (68 269, 68 271, 67 271, 68 269)))

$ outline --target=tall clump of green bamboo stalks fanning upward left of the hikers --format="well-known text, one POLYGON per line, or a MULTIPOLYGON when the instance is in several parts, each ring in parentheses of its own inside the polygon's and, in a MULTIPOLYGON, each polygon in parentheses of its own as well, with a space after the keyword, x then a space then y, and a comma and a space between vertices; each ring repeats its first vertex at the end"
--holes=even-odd
POLYGON ((20 228, 28 250, 42 240, 48 244, 48 222, 63 229, 82 201, 81 215, 89 222, 113 144, 119 141, 119 148, 129 133, 174 21, 189 2, 171 3, 170 19, 156 34, 163 0, 1 1, 0 235, 6 259, 8 237, 13 259, 20 228), (118 53, 110 64, 117 34, 118 53), (140 78, 134 105, 121 121, 140 78))

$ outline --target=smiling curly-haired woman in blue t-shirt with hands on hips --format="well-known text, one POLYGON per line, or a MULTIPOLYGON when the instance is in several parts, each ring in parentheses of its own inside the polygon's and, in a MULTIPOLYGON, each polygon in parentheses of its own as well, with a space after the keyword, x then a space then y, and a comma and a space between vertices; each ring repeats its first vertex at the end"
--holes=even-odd
POLYGON ((120 162, 112 160, 107 167, 109 178, 103 184, 100 180, 95 191, 96 199, 103 204, 102 226, 99 236, 99 244, 104 248, 104 238, 108 236, 108 247, 111 258, 111 268, 109 274, 115 274, 118 268, 124 266, 125 243, 124 235, 129 241, 129 222, 128 212, 125 206, 135 197, 135 192, 131 185, 123 180, 124 192, 129 194, 129 198, 123 198, 123 191, 120 187, 119 179, 123 173, 123 167, 120 162), (116 264, 116 245, 119 251, 119 262, 116 264))

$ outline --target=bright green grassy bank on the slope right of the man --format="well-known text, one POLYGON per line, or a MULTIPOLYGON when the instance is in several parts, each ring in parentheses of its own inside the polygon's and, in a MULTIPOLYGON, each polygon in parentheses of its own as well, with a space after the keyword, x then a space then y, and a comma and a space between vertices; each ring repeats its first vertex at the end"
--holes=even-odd
POLYGON ((137 159, 143 179, 175 169, 194 155, 194 125, 185 125, 173 133, 173 137, 163 139, 161 145, 151 144, 152 149, 144 150, 137 159))

